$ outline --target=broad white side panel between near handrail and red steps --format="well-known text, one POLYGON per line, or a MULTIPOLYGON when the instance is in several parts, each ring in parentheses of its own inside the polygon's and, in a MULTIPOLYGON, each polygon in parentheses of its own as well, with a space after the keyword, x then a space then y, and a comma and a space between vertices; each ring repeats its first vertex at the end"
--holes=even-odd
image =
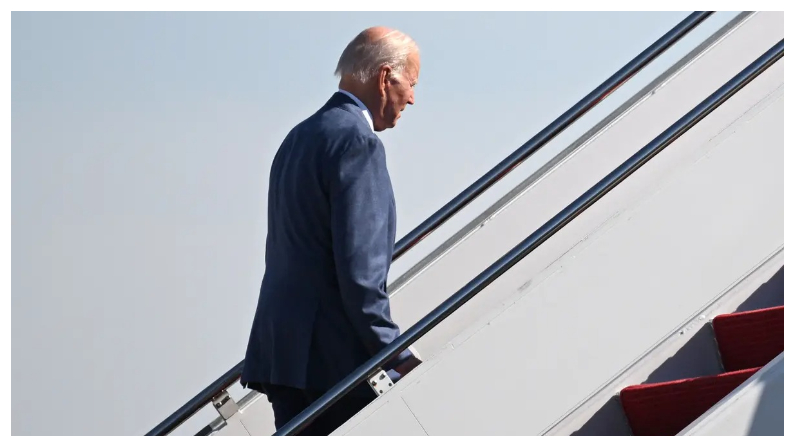
POLYGON ((390 393, 431 435, 541 433, 775 252, 782 85, 779 62, 570 225, 587 238, 561 256, 573 235, 553 237, 542 275, 512 269, 532 287, 390 393))

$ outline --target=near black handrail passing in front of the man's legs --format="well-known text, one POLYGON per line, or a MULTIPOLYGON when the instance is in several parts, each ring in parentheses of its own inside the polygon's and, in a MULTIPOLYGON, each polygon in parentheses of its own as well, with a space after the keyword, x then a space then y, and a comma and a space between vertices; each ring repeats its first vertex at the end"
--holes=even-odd
POLYGON ((784 39, 781 39, 781 41, 771 47, 767 52, 765 52, 765 54, 748 65, 729 82, 723 84, 723 86, 707 97, 707 99, 702 101, 685 116, 680 118, 673 125, 659 134, 646 146, 636 152, 632 157, 627 159, 619 167, 613 170, 613 172, 602 178, 602 180, 591 187, 591 189, 586 191, 583 195, 569 204, 569 206, 555 215, 555 217, 547 221, 539 229, 533 232, 533 234, 528 236, 527 239, 515 246, 497 262, 489 266, 489 268, 484 270, 475 279, 470 281, 453 296, 445 300, 431 313, 426 315, 422 320, 417 322, 417 324, 409 328, 409 330, 400 335, 387 347, 382 349, 381 352, 376 354, 375 357, 349 374, 334 388, 321 396, 320 399, 312 403, 312 405, 310 405, 306 410, 285 424, 274 435, 292 435, 305 428, 316 417, 318 417, 320 413, 328 409, 334 402, 342 398, 361 382, 371 377, 381 368, 382 365, 408 348, 412 343, 436 327, 436 325, 444 321, 444 319, 455 312, 456 309, 466 304, 481 290, 494 282, 516 263, 524 259, 525 256, 532 253, 536 248, 543 244, 547 239, 552 237, 561 228, 565 227, 574 218, 587 210, 605 194, 610 192, 627 177, 632 175, 633 172, 640 169, 641 166, 646 164, 646 162, 651 160, 655 155, 662 152, 663 149, 668 147, 677 138, 698 124, 702 119, 704 119, 704 117, 712 113, 712 111, 717 109, 721 104, 726 102, 735 93, 745 87, 749 82, 753 81, 757 76, 759 76, 763 71, 781 59, 783 56, 784 39))

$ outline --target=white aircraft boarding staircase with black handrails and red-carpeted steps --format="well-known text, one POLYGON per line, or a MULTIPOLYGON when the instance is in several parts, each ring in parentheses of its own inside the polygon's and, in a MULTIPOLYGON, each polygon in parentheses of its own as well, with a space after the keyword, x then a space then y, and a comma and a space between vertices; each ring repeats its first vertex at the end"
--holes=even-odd
MULTIPOLYGON (((708 16, 622 67, 395 259, 708 16)), ((365 380, 388 391, 335 435, 721 434, 750 417, 737 407, 783 415, 762 392, 769 377, 783 387, 782 36, 783 14, 741 13, 390 284, 402 335, 276 434, 365 380), (412 347, 424 363, 393 383, 381 365, 412 347)), ((208 404, 218 415, 198 435, 274 434, 267 399, 230 395, 241 370, 148 435, 208 404)))

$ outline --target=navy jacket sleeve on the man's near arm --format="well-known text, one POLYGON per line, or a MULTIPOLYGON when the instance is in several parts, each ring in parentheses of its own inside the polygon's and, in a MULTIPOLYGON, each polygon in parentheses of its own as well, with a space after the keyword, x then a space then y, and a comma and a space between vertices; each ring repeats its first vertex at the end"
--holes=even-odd
MULTIPOLYGON (((386 292, 393 237, 384 147, 377 138, 354 138, 331 171, 331 232, 342 304, 359 338, 375 355, 400 334, 386 292)), ((411 355, 402 352, 384 369, 411 355)))

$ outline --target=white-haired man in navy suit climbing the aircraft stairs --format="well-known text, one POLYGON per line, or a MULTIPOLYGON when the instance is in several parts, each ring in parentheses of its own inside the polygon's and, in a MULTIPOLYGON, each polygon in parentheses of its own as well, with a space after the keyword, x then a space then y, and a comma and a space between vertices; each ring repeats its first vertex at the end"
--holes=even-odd
MULTIPOLYGON (((420 72, 405 34, 368 28, 345 48, 339 88, 289 132, 273 160, 266 270, 241 383, 268 396, 276 428, 399 335, 387 274, 395 243, 395 202, 384 146, 420 72)), ((420 360, 409 350, 385 370, 420 360)), ((375 398, 362 384, 302 434, 328 435, 375 398)))

